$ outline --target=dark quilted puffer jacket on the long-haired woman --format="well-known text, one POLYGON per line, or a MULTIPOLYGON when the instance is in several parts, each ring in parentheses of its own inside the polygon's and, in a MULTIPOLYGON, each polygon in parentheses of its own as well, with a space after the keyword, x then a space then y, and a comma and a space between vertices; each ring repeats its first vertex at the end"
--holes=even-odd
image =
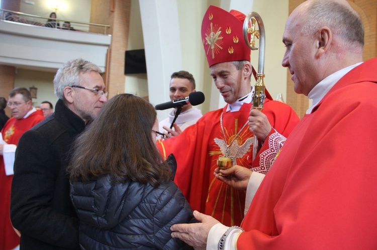
POLYGON ((169 181, 158 188, 105 176, 71 184, 83 249, 192 249, 171 238, 170 226, 193 220, 181 191, 169 181))

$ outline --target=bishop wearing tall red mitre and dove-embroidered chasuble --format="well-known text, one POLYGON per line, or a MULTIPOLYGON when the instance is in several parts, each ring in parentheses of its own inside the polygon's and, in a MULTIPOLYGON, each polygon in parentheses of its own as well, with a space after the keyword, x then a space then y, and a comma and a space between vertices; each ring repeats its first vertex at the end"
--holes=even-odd
POLYGON ((268 172, 280 146, 299 122, 290 106, 273 101, 267 93, 263 113, 258 113, 262 125, 254 130, 263 144, 253 161, 254 133, 248 126, 252 66, 250 49, 243 40, 244 19, 238 11, 209 7, 202 23, 202 42, 213 82, 227 105, 158 145, 165 157, 174 154, 174 181, 192 208, 229 226, 239 225, 244 217, 245 191, 215 178, 219 156, 227 155, 234 164, 251 169, 258 186, 259 176, 268 172))

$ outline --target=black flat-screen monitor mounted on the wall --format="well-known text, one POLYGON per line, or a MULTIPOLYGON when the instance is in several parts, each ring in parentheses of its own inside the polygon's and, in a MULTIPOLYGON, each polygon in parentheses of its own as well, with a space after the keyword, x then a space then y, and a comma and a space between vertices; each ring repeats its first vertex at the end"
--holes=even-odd
POLYGON ((147 73, 144 49, 127 50, 124 62, 124 74, 127 75, 142 73, 147 73))

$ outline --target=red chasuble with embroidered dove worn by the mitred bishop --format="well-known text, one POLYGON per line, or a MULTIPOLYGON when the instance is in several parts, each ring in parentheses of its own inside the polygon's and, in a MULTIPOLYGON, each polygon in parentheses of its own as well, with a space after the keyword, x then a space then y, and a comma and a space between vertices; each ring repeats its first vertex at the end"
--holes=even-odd
MULTIPOLYGON (((239 225, 243 219, 245 191, 236 190, 214 176, 216 161, 224 155, 224 143, 237 143, 237 164, 259 167, 259 157, 252 162, 253 133, 248 125, 251 104, 243 104, 237 112, 223 109, 205 114, 195 125, 186 128, 179 136, 162 141, 158 145, 166 158, 173 153, 177 161, 174 182, 182 190, 193 209, 214 216, 225 225, 239 225), (220 117, 223 114, 223 128, 220 117), (236 136, 239 133, 239 136, 236 136)), ((273 128, 288 136, 299 122, 297 114, 287 104, 266 99, 263 113, 273 128)), ((259 152, 268 148, 264 143, 259 152)), ((268 171, 268 169, 260 169, 268 171)))

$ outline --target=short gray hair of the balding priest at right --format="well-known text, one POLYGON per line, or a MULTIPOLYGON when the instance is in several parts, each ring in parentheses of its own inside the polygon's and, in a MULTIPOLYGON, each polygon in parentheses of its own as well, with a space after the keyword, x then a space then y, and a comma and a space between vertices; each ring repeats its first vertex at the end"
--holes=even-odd
POLYGON ((304 15, 304 35, 314 35, 321 27, 327 26, 342 45, 364 45, 364 27, 359 15, 351 7, 333 1, 315 1, 308 6, 304 15))

